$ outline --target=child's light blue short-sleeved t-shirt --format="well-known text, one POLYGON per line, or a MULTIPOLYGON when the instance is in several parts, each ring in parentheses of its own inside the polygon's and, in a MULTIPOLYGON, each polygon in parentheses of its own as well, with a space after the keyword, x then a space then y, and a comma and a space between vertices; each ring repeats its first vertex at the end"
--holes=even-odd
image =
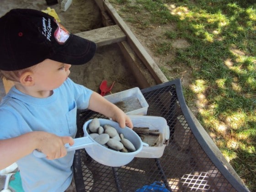
MULTIPOLYGON (((75 137, 77 109, 86 109, 92 91, 69 78, 47 98, 28 96, 15 87, 0 103, 0 139, 31 131, 46 131, 75 137)), ((47 160, 33 154, 17 161, 22 187, 27 191, 63 192, 69 187, 75 151, 60 159, 47 160)))

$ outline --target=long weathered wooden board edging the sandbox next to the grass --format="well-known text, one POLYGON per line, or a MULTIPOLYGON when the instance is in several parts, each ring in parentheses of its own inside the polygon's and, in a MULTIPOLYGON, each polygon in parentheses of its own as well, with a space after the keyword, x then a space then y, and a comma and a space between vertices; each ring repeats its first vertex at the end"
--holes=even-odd
POLYGON ((159 69, 155 61, 150 57, 149 53, 145 50, 145 48, 141 45, 139 40, 133 35, 133 32, 129 29, 123 19, 118 15, 117 11, 112 7, 112 5, 108 2, 108 0, 96 0, 96 3, 103 3, 104 8, 108 11, 108 13, 112 16, 115 23, 123 30, 123 32, 127 36, 127 42, 133 48, 135 53, 139 56, 139 58, 143 61, 146 67, 149 69, 150 73, 155 78, 158 84, 167 82, 167 78, 163 74, 163 72, 159 69))

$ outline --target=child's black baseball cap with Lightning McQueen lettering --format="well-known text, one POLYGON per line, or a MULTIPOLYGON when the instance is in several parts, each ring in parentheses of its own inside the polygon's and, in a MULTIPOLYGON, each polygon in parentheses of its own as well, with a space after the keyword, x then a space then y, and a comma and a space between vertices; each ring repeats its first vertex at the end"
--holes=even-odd
POLYGON ((25 69, 45 59, 80 65, 95 51, 96 43, 69 33, 42 11, 12 9, 0 18, 0 70, 25 69))

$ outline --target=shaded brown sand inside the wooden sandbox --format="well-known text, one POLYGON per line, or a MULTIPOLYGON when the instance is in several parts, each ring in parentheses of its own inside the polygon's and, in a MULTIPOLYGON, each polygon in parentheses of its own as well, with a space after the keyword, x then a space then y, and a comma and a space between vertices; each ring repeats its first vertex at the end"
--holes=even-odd
MULTIPOLYGON (((94 0, 73 0, 67 11, 61 11, 60 3, 47 5, 45 0, 1 0, 0 16, 14 8, 29 8, 46 10, 54 9, 59 16, 60 23, 71 33, 89 31, 103 27, 101 13, 94 0)), ((100 93, 99 86, 102 80, 107 80, 110 86, 113 81, 112 93, 127 90, 138 86, 130 70, 126 67, 117 44, 98 48, 94 58, 87 64, 70 69, 70 78, 76 83, 100 93)))

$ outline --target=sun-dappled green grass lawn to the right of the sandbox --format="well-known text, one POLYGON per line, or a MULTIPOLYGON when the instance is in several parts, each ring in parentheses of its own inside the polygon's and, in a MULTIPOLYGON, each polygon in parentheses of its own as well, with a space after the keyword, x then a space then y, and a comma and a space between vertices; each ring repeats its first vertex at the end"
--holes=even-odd
MULTIPOLYGON (((250 190, 255 190, 256 134, 252 133, 245 140, 240 137, 246 137, 247 130, 256 129, 256 2, 201 0, 198 3, 201 6, 195 7, 197 3, 177 3, 177 11, 172 9, 177 13, 169 19, 177 21, 176 35, 172 37, 185 38, 191 46, 186 49, 170 47, 166 53, 176 52, 171 65, 184 63, 192 68, 194 87, 198 88, 203 82, 201 91, 188 91, 204 95, 207 100, 201 108, 203 126, 224 137, 226 144, 234 139, 239 146, 245 145, 243 149, 230 149, 223 144, 236 153, 236 158, 230 162, 235 171, 250 190), (178 9, 179 6, 183 8, 178 9), (182 13, 186 10, 184 6, 189 11, 182 13), (193 10, 197 12, 192 13, 193 10), (224 133, 218 133, 221 123, 225 124, 224 133)), ((194 97, 184 96, 186 100, 194 97)))

